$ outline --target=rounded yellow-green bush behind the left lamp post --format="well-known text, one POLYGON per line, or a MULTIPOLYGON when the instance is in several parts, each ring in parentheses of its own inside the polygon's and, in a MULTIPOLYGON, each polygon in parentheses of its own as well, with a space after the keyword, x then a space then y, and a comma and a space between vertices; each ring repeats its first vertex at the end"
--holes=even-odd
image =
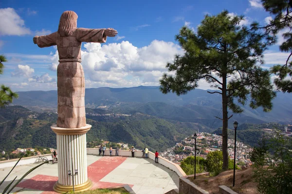
MULTIPOLYGON (((196 173, 204 171, 206 165, 205 159, 202 157, 196 157, 196 173)), ((186 175, 193 175, 195 172, 195 156, 188 156, 181 162, 181 168, 186 175)))

